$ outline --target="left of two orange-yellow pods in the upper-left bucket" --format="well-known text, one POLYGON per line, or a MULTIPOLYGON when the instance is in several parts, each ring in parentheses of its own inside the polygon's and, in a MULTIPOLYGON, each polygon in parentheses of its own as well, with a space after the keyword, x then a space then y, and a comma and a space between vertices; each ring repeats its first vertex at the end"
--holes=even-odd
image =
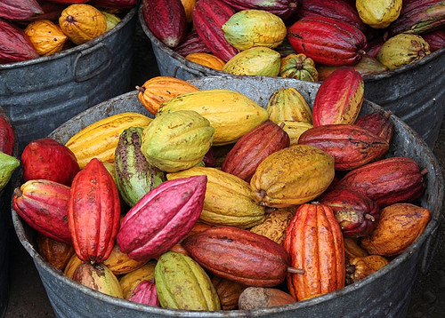
POLYGON ((25 34, 40 56, 61 52, 68 36, 50 20, 36 20, 28 24, 25 34))

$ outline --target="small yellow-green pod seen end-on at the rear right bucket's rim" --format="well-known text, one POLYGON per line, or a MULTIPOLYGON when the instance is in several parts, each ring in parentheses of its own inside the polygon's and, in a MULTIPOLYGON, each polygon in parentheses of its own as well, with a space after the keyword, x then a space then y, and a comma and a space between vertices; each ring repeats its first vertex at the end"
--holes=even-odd
POLYGON ((304 54, 289 54, 282 58, 279 76, 307 82, 317 82, 319 80, 319 72, 315 68, 314 61, 304 54))

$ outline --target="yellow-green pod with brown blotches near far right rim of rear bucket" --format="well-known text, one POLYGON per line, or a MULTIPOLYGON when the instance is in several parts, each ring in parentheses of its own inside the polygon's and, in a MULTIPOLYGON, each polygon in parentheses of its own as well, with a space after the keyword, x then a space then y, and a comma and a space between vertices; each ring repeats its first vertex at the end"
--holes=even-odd
POLYGON ((422 36, 400 34, 392 36, 382 45, 377 60, 386 68, 396 69, 422 60, 430 53, 430 44, 422 36))

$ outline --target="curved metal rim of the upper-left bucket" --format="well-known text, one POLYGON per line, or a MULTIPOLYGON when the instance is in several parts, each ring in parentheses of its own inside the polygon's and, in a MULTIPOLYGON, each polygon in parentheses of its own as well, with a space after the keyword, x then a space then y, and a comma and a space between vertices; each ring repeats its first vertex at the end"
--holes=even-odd
POLYGON ((61 52, 57 52, 48 56, 41 56, 32 60, 22 60, 19 62, 12 62, 6 64, 0 64, 0 71, 4 69, 11 68, 21 68, 28 67, 29 65, 34 65, 38 63, 44 63, 52 60, 59 60, 65 58, 67 55, 71 55, 77 52, 85 51, 93 46, 100 45, 102 40, 109 38, 109 36, 117 33, 121 28, 124 28, 125 25, 134 18, 134 15, 137 12, 137 5, 135 5, 129 12, 125 14, 124 19, 122 19, 119 23, 117 23, 116 27, 110 29, 108 32, 105 32, 101 36, 94 37, 93 40, 86 42, 85 44, 76 45, 75 47, 69 48, 68 50, 62 50, 61 52))

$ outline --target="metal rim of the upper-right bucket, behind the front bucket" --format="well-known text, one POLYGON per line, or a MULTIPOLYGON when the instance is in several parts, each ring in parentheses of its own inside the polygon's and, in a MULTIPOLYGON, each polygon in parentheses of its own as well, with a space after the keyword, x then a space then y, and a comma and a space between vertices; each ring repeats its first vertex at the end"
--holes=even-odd
MULTIPOLYGON (((191 73, 195 74, 196 72, 198 72, 198 74, 197 74, 198 76, 206 76, 206 74, 209 74, 212 76, 216 76, 216 75, 225 76, 228 74, 228 73, 225 73, 223 71, 220 71, 220 70, 217 70, 214 68, 207 68, 206 66, 192 62, 191 60, 186 60, 182 55, 178 54, 177 52, 174 52, 174 50, 172 50, 171 48, 166 46, 166 44, 163 44, 160 40, 158 40, 158 38, 150 31, 150 28, 147 26, 147 23, 143 19, 142 5, 140 6, 140 9, 139 9, 139 22, 142 26, 142 30, 144 31, 145 35, 149 37, 150 42, 152 44, 155 44, 162 52, 166 52, 166 54, 168 54, 175 60, 179 60, 183 65, 185 65, 185 67, 191 68, 192 70, 195 71, 195 72, 191 72, 191 73)), ((408 65, 405 65, 401 68, 387 70, 387 71, 384 71, 384 72, 381 72, 378 74, 369 74, 366 76, 362 76, 363 81, 365 83, 366 82, 375 82, 375 81, 379 81, 384 78, 389 78, 392 76, 396 76, 396 75, 399 75, 402 73, 409 72, 413 68, 417 68, 418 66, 429 63, 432 60, 439 59, 441 57, 441 55, 444 55, 444 53, 445 53, 445 47, 442 47, 441 49, 430 53, 424 59, 417 60, 417 61, 410 63, 408 65)), ((277 77, 277 76, 269 76, 269 77, 277 77)), ((282 77, 279 77, 279 78, 282 78, 282 77)), ((316 83, 321 83, 321 82, 322 81, 318 81, 316 83)))

